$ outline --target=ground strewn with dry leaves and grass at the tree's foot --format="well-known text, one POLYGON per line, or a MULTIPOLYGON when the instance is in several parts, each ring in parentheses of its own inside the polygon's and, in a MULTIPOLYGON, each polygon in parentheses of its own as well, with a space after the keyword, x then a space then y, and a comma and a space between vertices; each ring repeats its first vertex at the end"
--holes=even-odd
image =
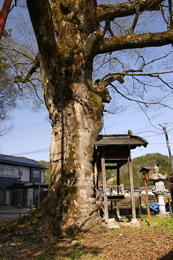
POLYGON ((152 217, 150 228, 147 218, 141 218, 140 228, 121 224, 117 230, 101 233, 95 227, 87 234, 58 240, 47 226, 8 230, 9 221, 1 219, 0 225, 8 233, 1 233, 0 259, 173 259, 173 218, 152 217))

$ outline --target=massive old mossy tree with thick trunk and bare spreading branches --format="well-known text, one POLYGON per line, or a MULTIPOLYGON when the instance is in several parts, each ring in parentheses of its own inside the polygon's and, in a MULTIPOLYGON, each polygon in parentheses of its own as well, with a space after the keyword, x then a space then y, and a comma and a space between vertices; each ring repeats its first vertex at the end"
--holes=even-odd
MULTIPOLYGON (((150 102, 143 100, 152 81, 142 83, 140 91, 135 84, 132 86, 134 81, 141 83, 141 73, 159 79, 163 92, 165 88, 172 92, 170 82, 166 83, 160 73, 146 74, 145 66, 153 61, 146 62, 139 53, 140 48, 172 43, 172 6, 171 1, 162 0, 112 1, 105 5, 95 0, 27 0, 27 8, 39 47, 43 95, 53 128, 51 185, 35 216, 49 223, 57 234, 72 235, 102 223, 93 142, 102 127, 104 103, 111 99, 107 88, 111 86, 122 96, 128 94, 130 100, 140 92, 140 106, 159 103, 161 99, 153 97, 150 102), (157 26, 160 12, 167 23, 165 30, 157 26), (132 49, 136 49, 136 62, 140 60, 136 70, 125 69, 120 59, 121 51, 123 55, 129 50, 128 57, 132 49), (96 57, 99 67, 98 55, 104 56, 103 61, 109 62, 111 68, 114 61, 115 71, 105 76, 102 71, 102 79, 94 83, 93 62, 96 57), (122 71, 117 71, 116 64, 122 65, 122 71), (129 84, 133 93, 128 92, 128 84, 122 85, 122 91, 114 84, 124 84, 126 75, 132 77, 129 84)), ((155 57, 157 60, 159 56, 155 57)))

